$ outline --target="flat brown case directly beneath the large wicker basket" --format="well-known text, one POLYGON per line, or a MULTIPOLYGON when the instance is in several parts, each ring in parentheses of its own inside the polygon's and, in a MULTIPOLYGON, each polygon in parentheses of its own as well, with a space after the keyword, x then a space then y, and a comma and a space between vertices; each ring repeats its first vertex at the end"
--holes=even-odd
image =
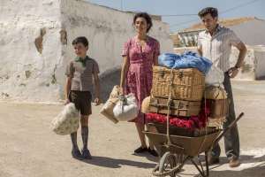
MULTIPOLYGON (((149 112, 155 113, 168 113, 168 99, 151 97, 149 104, 149 112)), ((182 101, 182 100, 172 100, 170 102, 170 115, 174 116, 197 116, 201 111, 201 101, 182 101)))

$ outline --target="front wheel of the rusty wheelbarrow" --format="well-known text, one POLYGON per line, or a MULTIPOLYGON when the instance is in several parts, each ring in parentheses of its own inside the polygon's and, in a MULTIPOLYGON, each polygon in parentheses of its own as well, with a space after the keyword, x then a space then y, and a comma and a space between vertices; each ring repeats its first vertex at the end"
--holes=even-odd
MULTIPOLYGON (((170 152, 166 152, 163 154, 163 157, 159 162, 159 173, 170 172, 177 165, 176 156, 170 152)), ((172 172, 169 174, 171 177, 176 176, 176 172, 172 172)))

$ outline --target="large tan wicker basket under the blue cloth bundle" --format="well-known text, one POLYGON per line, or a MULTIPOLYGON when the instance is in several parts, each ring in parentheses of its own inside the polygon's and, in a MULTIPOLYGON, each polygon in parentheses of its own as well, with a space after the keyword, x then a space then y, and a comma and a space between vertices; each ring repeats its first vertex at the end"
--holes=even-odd
POLYGON ((171 69, 153 66, 151 93, 155 97, 169 97, 186 101, 201 101, 205 87, 205 76, 196 68, 173 69, 170 89, 171 69))

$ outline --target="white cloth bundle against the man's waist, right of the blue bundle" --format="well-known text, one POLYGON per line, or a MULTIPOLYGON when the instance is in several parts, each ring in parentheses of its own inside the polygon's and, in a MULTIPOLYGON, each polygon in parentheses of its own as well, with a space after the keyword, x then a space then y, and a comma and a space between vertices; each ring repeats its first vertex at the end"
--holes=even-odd
POLYGON ((205 84, 207 86, 221 86, 223 88, 224 75, 223 71, 212 65, 205 77, 205 84))

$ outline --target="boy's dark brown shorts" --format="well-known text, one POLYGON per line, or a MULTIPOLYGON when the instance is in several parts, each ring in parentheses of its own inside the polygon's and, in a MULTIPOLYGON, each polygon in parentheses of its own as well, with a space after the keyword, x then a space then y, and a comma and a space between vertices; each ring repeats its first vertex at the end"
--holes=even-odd
POLYGON ((92 113, 92 96, 89 91, 71 90, 69 99, 75 104, 76 109, 79 110, 81 115, 88 116, 92 113))

